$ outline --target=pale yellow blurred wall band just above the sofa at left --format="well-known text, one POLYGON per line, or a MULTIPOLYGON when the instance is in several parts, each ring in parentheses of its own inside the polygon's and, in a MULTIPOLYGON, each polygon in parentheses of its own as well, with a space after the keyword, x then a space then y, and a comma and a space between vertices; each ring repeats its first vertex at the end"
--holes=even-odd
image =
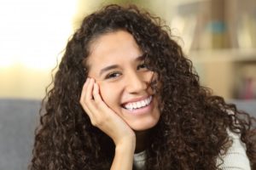
POLYGON ((0 68, 0 98, 42 99, 50 82, 50 71, 22 66, 0 68))

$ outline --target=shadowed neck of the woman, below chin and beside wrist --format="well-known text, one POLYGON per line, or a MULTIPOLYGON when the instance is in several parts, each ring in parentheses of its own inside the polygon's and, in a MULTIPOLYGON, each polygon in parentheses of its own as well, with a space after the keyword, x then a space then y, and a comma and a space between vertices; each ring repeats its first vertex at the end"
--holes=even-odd
POLYGON ((146 150, 148 145, 148 134, 149 130, 145 131, 137 131, 136 134, 136 148, 135 153, 142 152, 143 150, 146 150))

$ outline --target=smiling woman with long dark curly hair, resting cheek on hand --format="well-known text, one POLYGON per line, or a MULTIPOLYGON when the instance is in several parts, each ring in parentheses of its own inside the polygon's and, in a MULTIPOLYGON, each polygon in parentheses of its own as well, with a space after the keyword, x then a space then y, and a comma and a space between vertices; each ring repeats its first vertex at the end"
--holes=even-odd
POLYGON ((31 169, 256 168, 254 119, 201 87, 166 28, 134 6, 84 18, 48 93, 31 169))

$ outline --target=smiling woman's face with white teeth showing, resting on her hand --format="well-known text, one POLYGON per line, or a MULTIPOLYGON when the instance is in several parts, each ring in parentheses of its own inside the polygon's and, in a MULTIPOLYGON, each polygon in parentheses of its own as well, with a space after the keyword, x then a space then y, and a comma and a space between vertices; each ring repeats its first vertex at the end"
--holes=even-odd
POLYGON ((87 65, 108 107, 133 130, 154 127, 160 111, 149 86, 153 72, 145 67, 143 52, 130 33, 115 31, 98 37, 90 46, 87 65))

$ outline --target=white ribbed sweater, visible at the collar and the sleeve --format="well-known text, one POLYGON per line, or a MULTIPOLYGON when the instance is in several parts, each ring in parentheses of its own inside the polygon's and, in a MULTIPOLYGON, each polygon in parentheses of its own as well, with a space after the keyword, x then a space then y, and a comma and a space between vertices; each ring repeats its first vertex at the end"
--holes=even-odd
MULTIPOLYGON (((217 159, 217 165, 219 165, 223 159, 223 164, 220 168, 223 170, 251 170, 250 162, 246 154, 246 146, 241 142, 240 136, 228 131, 230 139, 233 140, 233 144, 224 156, 219 156, 217 159)), ((145 151, 134 154, 134 165, 137 169, 143 170, 146 153, 145 151)))

